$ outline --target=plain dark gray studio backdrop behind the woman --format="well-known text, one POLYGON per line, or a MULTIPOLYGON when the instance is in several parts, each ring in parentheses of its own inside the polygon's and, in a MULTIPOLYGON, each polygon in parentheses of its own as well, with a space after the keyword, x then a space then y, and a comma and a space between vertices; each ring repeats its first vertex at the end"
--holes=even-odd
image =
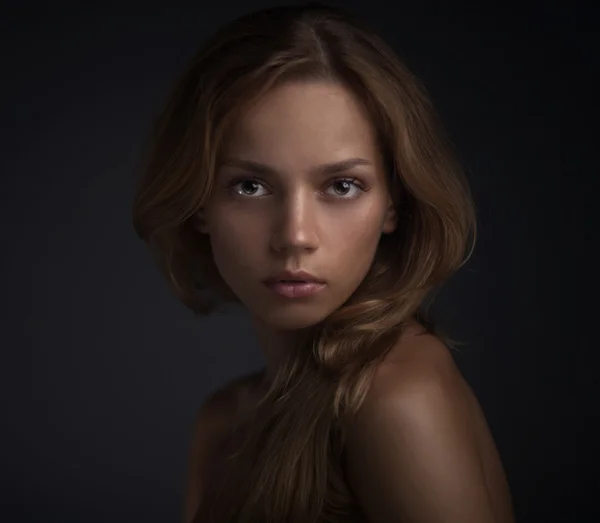
MULTIPOLYGON (((140 146, 175 76, 267 5, 196 4, 0 16, 3 521, 180 521, 196 408, 262 364, 245 317, 195 320, 131 226, 140 146)), ((595 309, 576 290, 597 175, 588 15, 352 4, 424 80, 473 185, 477 248, 435 310, 468 343, 457 362, 519 521, 597 521, 595 309)))

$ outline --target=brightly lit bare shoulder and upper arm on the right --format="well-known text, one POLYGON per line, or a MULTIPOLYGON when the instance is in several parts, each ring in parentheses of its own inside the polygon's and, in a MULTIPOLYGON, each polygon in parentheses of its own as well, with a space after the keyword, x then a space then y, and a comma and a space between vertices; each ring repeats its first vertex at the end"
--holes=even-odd
POLYGON ((514 521, 483 412, 436 336, 398 341, 347 436, 347 479, 373 521, 514 521))

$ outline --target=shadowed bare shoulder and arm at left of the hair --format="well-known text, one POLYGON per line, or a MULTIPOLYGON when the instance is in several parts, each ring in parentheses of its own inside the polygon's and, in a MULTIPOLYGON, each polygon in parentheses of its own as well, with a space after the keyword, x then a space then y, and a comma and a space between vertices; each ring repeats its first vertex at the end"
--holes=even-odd
POLYGON ((200 405, 189 444, 187 481, 184 493, 184 523, 192 521, 217 464, 220 449, 236 422, 241 401, 259 373, 250 373, 225 383, 200 405))

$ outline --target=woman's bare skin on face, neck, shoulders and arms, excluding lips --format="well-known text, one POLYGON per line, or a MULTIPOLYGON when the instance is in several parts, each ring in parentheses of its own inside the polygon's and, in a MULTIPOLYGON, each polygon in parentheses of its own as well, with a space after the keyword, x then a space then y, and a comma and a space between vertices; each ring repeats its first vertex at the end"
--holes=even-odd
MULTIPOLYGON (((269 93, 238 122, 226 162, 196 223, 253 318, 268 381, 289 342, 356 290, 381 235, 395 230, 396 215, 374 129, 352 94, 336 84, 291 83, 269 93), (349 158, 366 163, 336 174, 319 171, 349 158), (268 172, 257 174, 240 160, 268 172), (285 269, 327 284, 315 296, 283 298, 262 280, 285 269)), ((422 333, 411 320, 346 427, 348 484, 374 523, 514 523, 483 411, 446 346, 422 333)), ((219 467, 221 442, 258 400, 264 380, 262 373, 236 380, 200 410, 185 521, 219 467)))

